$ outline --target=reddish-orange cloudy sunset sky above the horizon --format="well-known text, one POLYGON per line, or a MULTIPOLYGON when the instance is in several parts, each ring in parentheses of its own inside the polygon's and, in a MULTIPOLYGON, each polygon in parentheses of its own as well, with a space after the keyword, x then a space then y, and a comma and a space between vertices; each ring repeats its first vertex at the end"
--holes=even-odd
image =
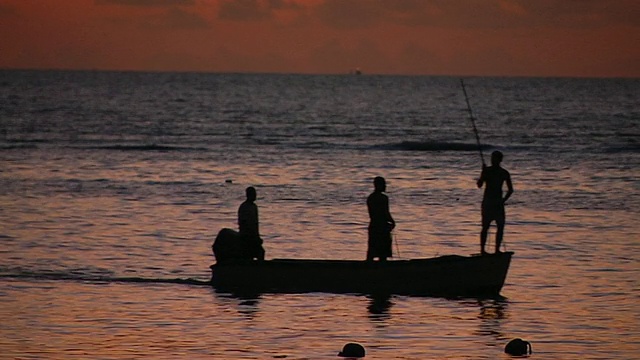
POLYGON ((0 68, 640 78, 640 0, 0 0, 0 68))

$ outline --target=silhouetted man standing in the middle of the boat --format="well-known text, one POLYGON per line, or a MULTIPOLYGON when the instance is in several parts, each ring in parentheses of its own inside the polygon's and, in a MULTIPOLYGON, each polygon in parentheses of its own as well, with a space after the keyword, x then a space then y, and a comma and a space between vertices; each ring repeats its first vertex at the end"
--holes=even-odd
POLYGON ((387 184, 383 177, 373 179, 374 191, 367 198, 369 209, 369 241, 367 246, 367 261, 374 258, 380 261, 387 260, 391 254, 391 230, 396 227, 396 222, 389 212, 389 198, 384 192, 387 184))

